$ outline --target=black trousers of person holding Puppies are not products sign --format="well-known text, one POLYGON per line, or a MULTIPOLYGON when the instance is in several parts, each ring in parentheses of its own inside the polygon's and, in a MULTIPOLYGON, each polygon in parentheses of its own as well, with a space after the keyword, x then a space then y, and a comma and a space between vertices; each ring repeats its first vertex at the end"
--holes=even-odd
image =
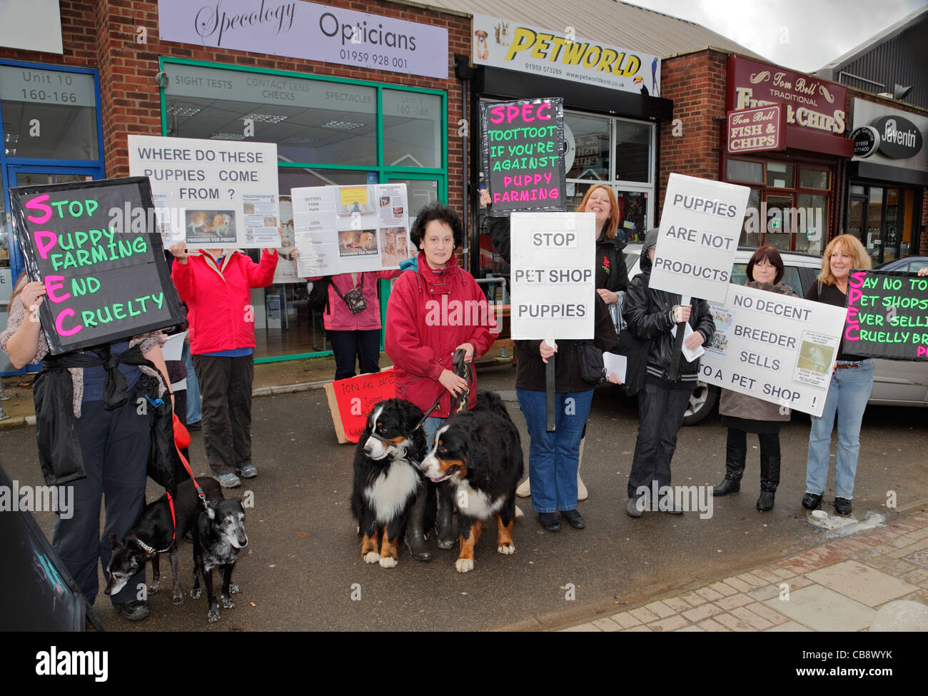
POLYGON ((690 403, 692 390, 671 389, 669 382, 645 382, 638 392, 638 441, 632 470, 628 474, 628 497, 637 498, 638 488, 651 490, 670 485, 670 460, 677 450, 677 432, 690 403), (665 385, 666 384, 666 385, 665 385))

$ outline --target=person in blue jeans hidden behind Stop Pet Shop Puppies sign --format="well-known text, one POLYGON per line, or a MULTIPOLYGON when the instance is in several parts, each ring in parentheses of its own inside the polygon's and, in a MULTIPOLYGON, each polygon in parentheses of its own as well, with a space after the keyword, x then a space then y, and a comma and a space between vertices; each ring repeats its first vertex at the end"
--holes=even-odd
MULTIPOLYGON (((619 339, 601 297, 596 297, 596 336, 592 341, 601 351, 617 353, 619 339)), ((516 342, 516 395, 529 434, 529 479, 532 482, 532 509, 549 532, 561 530, 558 512, 574 527, 586 522, 577 511, 581 437, 593 403, 593 386, 581 377, 577 352, 582 341, 558 341, 555 347, 544 341, 516 342), (547 430, 545 366, 554 359, 554 432, 547 430)), ((614 375, 610 380, 619 383, 614 375)), ((523 484, 524 485, 524 484, 523 484)))

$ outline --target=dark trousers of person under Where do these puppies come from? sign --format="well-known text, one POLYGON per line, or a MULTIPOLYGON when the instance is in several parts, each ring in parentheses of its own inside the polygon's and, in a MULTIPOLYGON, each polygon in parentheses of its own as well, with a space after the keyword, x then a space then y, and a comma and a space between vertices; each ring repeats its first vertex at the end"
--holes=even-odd
POLYGON ((203 400, 203 445, 213 475, 238 473, 251 464, 252 355, 194 355, 203 400))

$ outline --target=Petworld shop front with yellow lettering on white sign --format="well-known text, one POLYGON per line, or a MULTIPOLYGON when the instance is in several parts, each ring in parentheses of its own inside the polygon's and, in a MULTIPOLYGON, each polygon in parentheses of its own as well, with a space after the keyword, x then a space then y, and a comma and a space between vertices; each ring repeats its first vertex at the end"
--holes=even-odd
MULTIPOLYGON (((658 131, 673 114, 673 102, 660 97, 660 58, 485 15, 473 16, 472 34, 470 122, 480 122, 482 102, 563 97, 566 210, 604 184, 619 201, 620 237, 643 239, 657 215, 658 131)), ((471 142, 472 162, 481 161, 481 135, 471 142)), ((471 190, 480 187, 479 166, 470 174, 471 190)), ((471 217, 478 228, 481 215, 471 217)), ((475 275, 505 271, 485 233, 479 249, 475 275)))

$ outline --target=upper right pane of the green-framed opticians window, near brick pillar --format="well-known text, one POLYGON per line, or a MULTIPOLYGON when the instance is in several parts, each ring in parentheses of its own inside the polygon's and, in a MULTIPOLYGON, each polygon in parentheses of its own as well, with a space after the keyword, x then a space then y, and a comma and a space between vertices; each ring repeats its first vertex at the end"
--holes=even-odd
POLYGON ((442 166, 442 99, 383 90, 383 163, 391 167, 442 166))

